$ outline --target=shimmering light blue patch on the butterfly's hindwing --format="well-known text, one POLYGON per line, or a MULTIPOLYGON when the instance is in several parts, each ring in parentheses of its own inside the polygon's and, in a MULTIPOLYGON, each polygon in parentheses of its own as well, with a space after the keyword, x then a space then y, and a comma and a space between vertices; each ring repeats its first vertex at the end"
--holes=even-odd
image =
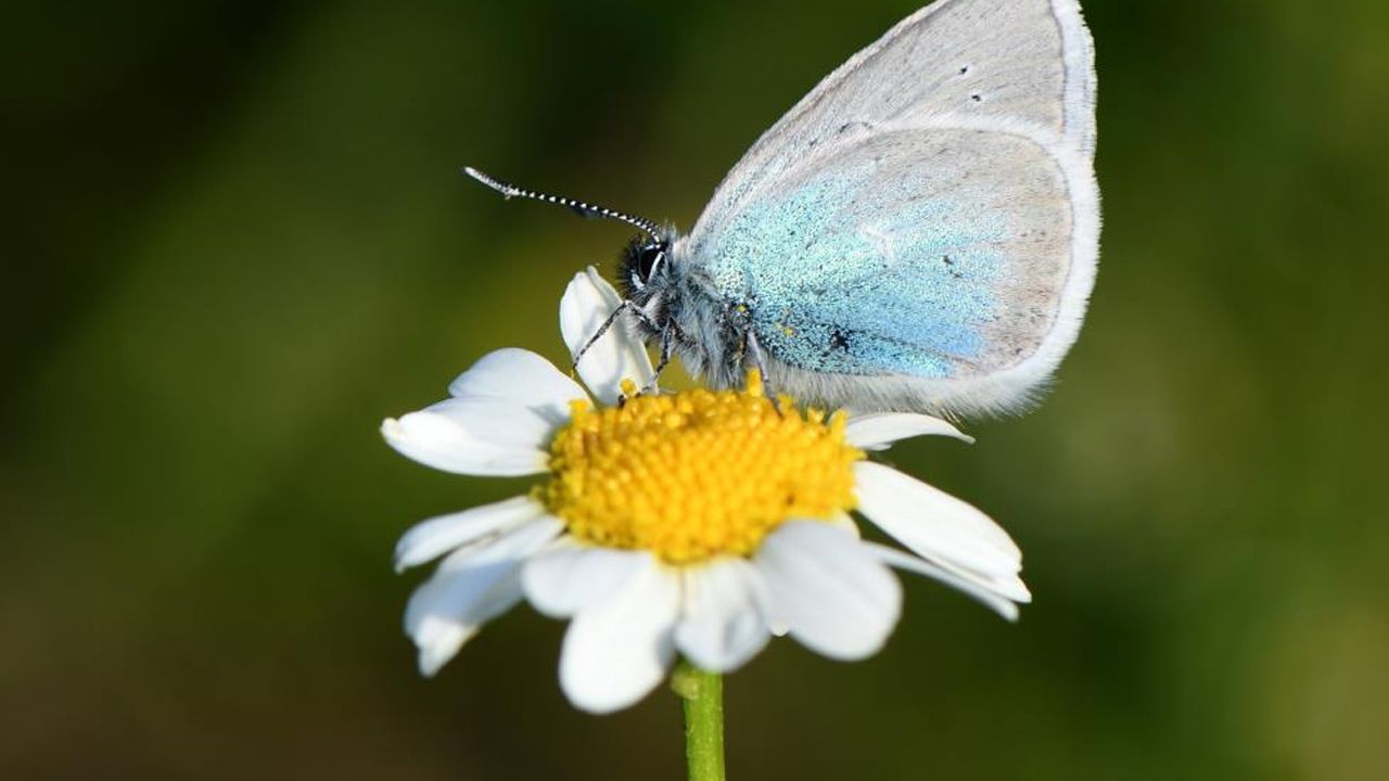
MULTIPOLYGON (((870 178, 825 175, 756 202, 710 247, 715 289, 797 368, 953 377, 985 346, 1008 232, 971 213, 975 199, 903 203, 875 197, 870 178)), ((931 188, 897 178, 893 189, 931 188)))

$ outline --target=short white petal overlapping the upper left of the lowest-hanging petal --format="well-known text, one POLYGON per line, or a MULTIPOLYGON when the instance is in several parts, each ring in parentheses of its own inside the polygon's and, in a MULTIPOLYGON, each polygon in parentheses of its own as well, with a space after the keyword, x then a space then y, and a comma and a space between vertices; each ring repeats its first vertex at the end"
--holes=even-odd
POLYGON ((526 561, 521 573, 531 605, 554 618, 567 618, 608 599, 644 571, 650 553, 588 545, 554 546, 526 561))

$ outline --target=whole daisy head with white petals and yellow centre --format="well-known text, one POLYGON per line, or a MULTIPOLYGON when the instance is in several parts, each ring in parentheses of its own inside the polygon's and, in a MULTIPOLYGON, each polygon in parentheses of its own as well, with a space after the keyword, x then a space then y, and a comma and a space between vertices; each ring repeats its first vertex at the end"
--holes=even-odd
MULTIPOLYGON (((560 304, 571 353, 618 304, 592 268, 575 277, 560 304)), ((560 685, 594 713, 642 699, 676 656, 726 673, 774 635, 871 656, 900 614, 893 568, 1007 618, 1029 600, 1021 553, 988 516, 867 459, 910 436, 968 441, 951 424, 774 404, 756 372, 742 390, 636 395, 651 364, 621 325, 576 370, 588 390, 535 353, 497 350, 449 399, 382 425, 429 467, 543 475, 400 539, 399 570, 442 557, 406 610, 424 674, 522 600, 569 618, 560 685), (851 511, 901 548, 860 539, 851 511)))

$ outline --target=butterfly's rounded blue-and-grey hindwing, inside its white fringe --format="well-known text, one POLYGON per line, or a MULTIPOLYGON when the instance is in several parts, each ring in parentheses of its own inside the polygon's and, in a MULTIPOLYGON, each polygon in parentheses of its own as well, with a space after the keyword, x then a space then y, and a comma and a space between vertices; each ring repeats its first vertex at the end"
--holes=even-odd
POLYGON ((706 258, 764 347, 811 371, 921 378, 1036 350, 1070 249, 1065 176, 1045 149, 913 129, 838 160, 779 182, 706 258))

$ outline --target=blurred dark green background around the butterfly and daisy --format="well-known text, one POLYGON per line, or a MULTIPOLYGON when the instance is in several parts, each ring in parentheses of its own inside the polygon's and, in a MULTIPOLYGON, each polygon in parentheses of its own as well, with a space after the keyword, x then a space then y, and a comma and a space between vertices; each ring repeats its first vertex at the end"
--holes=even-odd
MULTIPOLYGON (((689 227, 914 0, 11 4, 0 25, 0 777, 678 778, 519 609, 432 681, 400 631, 432 472, 382 417, 563 359, 626 239, 689 227)), ((908 579, 863 664, 728 681, 738 778, 1389 778, 1389 6, 1089 0, 1106 231, 1046 404, 897 464, 1026 552, 1008 625, 908 579)))

